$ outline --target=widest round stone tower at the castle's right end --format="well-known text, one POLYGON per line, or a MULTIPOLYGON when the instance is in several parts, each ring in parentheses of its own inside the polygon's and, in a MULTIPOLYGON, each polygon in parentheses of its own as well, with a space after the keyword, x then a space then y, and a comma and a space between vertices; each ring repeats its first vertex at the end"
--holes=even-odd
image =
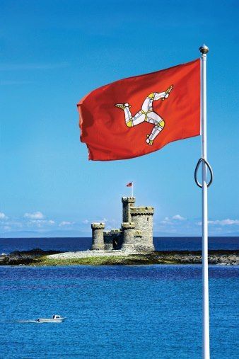
POLYGON ((131 207, 132 222, 135 230, 141 231, 141 237, 135 241, 137 251, 154 251, 153 246, 153 207, 131 207))

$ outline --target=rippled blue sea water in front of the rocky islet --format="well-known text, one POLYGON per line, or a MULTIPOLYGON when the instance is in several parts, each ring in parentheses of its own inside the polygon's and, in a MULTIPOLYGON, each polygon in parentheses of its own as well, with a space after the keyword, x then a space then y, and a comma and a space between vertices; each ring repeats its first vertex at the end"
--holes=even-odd
MULTIPOLYGON (((209 266, 211 358, 239 358, 236 266, 209 266)), ((0 267, 1 358, 201 358, 201 266, 0 267), (61 314, 62 324, 19 324, 61 314)))

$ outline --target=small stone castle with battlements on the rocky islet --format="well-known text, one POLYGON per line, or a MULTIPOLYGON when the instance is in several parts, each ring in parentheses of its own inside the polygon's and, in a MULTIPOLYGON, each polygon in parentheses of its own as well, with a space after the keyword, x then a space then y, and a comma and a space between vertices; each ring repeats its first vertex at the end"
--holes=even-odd
POLYGON ((153 246, 153 207, 135 207, 135 197, 122 197, 120 229, 104 231, 105 223, 92 223, 91 250, 151 252, 153 246))

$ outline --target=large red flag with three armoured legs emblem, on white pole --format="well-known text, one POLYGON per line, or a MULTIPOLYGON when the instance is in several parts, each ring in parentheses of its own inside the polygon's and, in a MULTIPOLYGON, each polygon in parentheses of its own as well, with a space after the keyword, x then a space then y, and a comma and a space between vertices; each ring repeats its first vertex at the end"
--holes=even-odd
POLYGON ((200 59, 115 81, 79 103, 89 159, 142 156, 200 134, 200 59))

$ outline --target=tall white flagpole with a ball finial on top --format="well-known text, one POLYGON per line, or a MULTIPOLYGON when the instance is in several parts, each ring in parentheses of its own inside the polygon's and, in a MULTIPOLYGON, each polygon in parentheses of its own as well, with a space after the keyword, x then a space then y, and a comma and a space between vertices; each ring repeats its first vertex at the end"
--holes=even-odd
MULTIPOLYGON (((209 48, 199 48, 201 57, 201 129, 202 159, 206 161, 206 54, 209 48)), ((202 161, 202 358, 210 358, 209 350, 209 271, 208 271, 208 212, 206 163, 202 161)))

